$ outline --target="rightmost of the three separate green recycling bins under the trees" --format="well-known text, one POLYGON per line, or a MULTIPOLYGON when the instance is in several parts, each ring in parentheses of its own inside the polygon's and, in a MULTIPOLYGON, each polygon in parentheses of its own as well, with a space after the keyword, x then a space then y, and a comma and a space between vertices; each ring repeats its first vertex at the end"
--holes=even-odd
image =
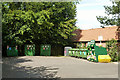
POLYGON ((40 55, 41 56, 50 56, 51 55, 51 45, 46 44, 46 45, 41 45, 40 47, 40 55))

